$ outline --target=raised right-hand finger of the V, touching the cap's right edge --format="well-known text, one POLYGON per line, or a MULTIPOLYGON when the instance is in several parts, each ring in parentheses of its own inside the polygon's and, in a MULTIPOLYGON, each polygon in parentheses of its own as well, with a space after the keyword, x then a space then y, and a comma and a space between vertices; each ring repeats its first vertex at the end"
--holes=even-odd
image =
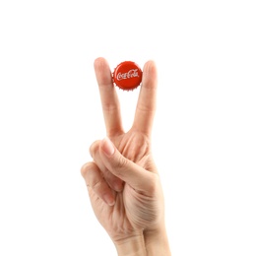
POLYGON ((150 135, 157 105, 158 74, 154 61, 144 65, 140 95, 135 112, 133 128, 150 135))

